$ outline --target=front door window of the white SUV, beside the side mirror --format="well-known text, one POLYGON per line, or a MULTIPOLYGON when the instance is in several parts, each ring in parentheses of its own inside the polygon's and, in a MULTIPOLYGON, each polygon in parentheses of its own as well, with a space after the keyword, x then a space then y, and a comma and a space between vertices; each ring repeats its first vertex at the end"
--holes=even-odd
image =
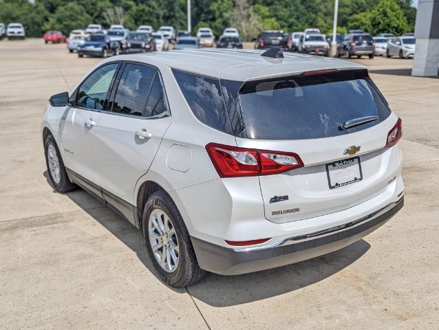
POLYGON ((118 63, 100 67, 93 72, 78 89, 76 106, 87 109, 105 110, 107 93, 116 74, 118 63))

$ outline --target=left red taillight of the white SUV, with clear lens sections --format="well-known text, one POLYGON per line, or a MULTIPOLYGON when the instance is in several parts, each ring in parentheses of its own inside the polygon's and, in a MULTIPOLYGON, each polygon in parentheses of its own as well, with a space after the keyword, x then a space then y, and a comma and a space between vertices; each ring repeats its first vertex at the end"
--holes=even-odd
POLYGON ((219 177, 272 175, 303 167, 296 153, 266 151, 209 143, 206 151, 219 177))

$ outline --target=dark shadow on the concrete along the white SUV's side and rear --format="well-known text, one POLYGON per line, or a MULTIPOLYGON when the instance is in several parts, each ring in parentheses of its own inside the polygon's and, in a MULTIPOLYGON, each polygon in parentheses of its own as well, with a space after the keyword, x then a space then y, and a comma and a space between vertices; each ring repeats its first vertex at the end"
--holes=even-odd
MULTIPOLYGON (((103 203, 98 202, 100 207, 96 207, 94 200, 97 199, 82 189, 65 195, 135 252, 144 266, 158 278, 143 236, 137 228, 103 203)), ((370 244, 361 239, 339 251, 272 270, 237 276, 209 273, 199 283, 187 287, 187 291, 191 296, 213 307, 251 303, 318 283, 354 263, 369 249, 370 244)), ((186 292, 169 285, 167 287, 174 292, 186 292)))

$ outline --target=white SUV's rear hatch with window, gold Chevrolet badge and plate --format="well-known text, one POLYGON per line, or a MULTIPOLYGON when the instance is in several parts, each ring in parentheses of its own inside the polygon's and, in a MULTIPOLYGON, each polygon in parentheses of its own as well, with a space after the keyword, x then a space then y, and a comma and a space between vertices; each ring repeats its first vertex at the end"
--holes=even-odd
POLYGON ((304 165, 259 177, 270 221, 350 208, 398 175, 397 148, 385 146, 398 118, 364 69, 250 81, 238 98, 245 128, 237 146, 296 153, 304 165), (358 118, 371 121, 346 128, 358 118))

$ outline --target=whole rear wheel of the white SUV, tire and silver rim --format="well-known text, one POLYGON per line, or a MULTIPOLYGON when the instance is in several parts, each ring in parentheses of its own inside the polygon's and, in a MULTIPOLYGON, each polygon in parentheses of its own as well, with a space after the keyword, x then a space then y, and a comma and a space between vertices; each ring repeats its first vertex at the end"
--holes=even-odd
POLYGON ((177 206, 163 190, 144 206, 143 236, 156 272, 173 287, 186 287, 206 274, 197 263, 191 237, 177 206))

